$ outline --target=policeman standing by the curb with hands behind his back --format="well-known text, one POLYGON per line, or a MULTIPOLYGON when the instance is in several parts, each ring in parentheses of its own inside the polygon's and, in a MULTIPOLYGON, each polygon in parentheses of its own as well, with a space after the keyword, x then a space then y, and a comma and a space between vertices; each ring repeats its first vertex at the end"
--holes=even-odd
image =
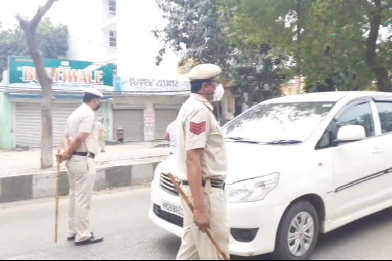
POLYGON ((68 240, 75 245, 93 244, 103 238, 93 236, 89 227, 91 195, 94 189, 94 157, 99 150, 94 135, 95 113, 100 107, 102 93, 89 88, 84 91, 83 103, 67 120, 63 136, 64 152, 57 154, 60 162, 67 160, 69 180, 68 240))

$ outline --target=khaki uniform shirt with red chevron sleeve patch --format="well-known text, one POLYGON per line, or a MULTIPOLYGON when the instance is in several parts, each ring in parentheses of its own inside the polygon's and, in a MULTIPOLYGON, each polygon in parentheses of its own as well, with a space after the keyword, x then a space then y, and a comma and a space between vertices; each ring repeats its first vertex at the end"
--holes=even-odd
POLYGON ((204 148, 201 155, 202 178, 225 180, 227 155, 222 130, 209 101, 192 93, 177 117, 177 176, 188 180, 186 151, 204 148))

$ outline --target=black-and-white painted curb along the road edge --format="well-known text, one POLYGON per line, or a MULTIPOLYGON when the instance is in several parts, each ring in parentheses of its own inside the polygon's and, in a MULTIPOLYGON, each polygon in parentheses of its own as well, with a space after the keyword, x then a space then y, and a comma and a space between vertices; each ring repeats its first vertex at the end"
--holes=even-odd
MULTIPOLYGON (((159 161, 97 167, 94 190, 126 187, 150 182, 159 161)), ((56 171, 0 177, 0 203, 52 197, 56 190, 56 171)), ((60 171, 59 195, 68 195, 66 171, 60 171)))

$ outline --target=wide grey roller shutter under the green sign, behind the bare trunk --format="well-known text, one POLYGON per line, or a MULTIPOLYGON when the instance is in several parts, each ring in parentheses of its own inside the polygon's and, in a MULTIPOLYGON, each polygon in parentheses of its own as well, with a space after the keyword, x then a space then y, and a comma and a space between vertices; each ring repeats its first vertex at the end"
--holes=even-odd
MULTIPOLYGON (((67 119, 81 103, 53 103, 53 146, 61 146, 67 119)), ((95 111, 95 119, 102 117, 102 109, 95 111)), ((40 103, 16 102, 15 106, 16 145, 31 148, 41 146, 40 103)))

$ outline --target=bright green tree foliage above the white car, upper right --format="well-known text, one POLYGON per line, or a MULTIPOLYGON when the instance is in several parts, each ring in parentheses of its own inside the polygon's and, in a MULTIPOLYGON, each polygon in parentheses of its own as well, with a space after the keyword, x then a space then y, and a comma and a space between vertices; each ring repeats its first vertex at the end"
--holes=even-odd
POLYGON ((306 77, 308 91, 358 90, 377 81, 391 91, 391 0, 232 1, 231 37, 271 44, 291 57, 292 74, 306 77), (383 24, 380 21, 386 21, 383 24))

